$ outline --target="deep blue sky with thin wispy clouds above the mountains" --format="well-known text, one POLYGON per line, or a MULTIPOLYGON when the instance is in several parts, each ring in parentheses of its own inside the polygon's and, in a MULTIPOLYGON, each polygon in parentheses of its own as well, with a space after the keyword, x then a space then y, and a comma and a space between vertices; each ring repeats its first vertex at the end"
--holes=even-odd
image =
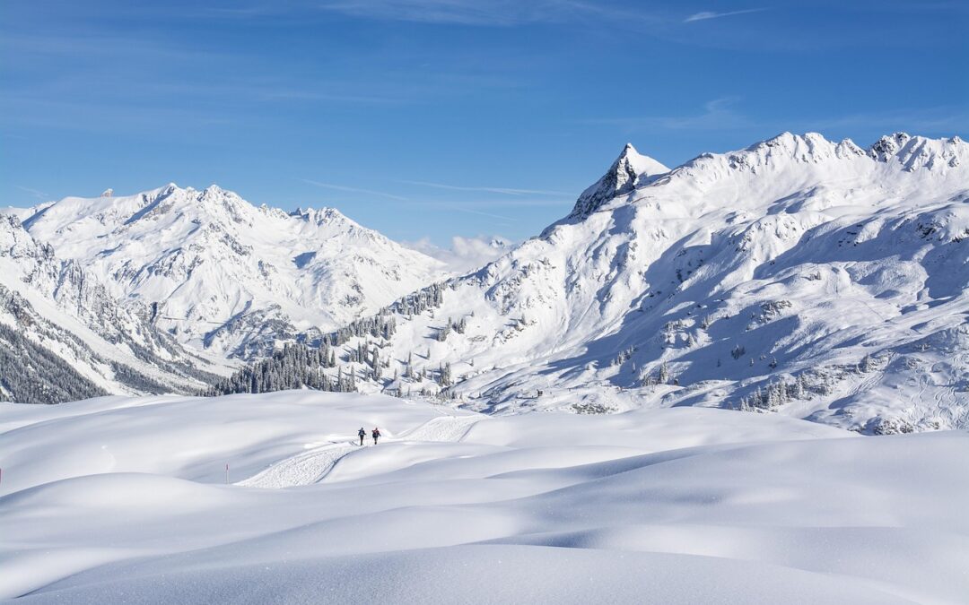
POLYGON ((522 239, 626 141, 969 135, 969 3, 0 3, 0 205, 211 183, 522 239))

